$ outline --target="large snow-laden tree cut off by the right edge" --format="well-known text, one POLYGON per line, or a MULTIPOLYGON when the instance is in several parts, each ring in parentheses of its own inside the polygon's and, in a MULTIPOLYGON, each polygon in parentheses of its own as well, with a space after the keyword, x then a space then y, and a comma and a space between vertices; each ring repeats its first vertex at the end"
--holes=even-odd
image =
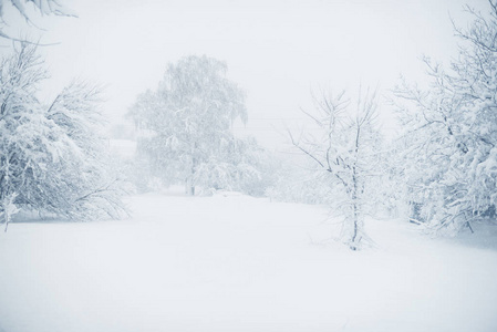
POLYGON ((455 28, 459 54, 448 70, 425 59, 432 84, 396 89, 405 128, 405 176, 414 218, 454 235, 494 215, 497 204, 497 1, 455 28))

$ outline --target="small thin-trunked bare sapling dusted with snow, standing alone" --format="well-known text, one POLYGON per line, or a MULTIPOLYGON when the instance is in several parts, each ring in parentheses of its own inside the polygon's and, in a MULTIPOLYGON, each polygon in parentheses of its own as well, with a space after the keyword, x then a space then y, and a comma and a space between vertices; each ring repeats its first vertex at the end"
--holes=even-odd
POLYGON ((373 204, 369 184, 376 175, 379 157, 375 94, 360 92, 354 105, 344 93, 323 94, 314 101, 315 112, 306 114, 319 126, 319 135, 304 133, 298 138, 290 133, 290 138, 331 180, 334 207, 344 217, 342 238, 356 250, 371 241, 363 219, 373 204))

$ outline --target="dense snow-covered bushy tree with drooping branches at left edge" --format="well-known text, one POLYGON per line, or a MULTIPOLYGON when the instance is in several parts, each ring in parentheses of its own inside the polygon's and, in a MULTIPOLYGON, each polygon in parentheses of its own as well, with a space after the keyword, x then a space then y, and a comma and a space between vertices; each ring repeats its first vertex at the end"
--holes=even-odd
POLYGON ((27 44, 0 64, 0 214, 6 224, 18 208, 118 217, 121 189, 106 168, 99 91, 72 83, 44 105, 35 96, 46 79, 42 64, 27 44))

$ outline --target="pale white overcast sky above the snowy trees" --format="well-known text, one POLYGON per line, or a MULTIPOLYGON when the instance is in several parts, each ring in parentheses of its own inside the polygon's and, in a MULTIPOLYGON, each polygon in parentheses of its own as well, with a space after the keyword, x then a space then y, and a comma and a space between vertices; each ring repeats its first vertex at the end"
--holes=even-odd
MULTIPOLYGON (((249 123, 237 126, 266 146, 287 141, 310 105, 310 91, 359 85, 383 94, 401 73, 423 79, 422 54, 447 61, 455 54, 449 14, 466 24, 464 3, 485 9, 484 0, 61 0, 79 18, 35 20, 44 31, 19 30, 6 11, 13 34, 59 42, 41 48, 53 95, 72 77, 104 85, 105 113, 113 121, 136 95, 155 89, 168 62, 207 54, 228 63, 228 75, 247 92, 249 123), (13 23, 12 23, 13 22, 13 23), (22 31, 22 32, 19 32, 22 31), (276 129, 276 131, 275 131, 276 129), (277 132, 280 132, 277 133, 277 132)), ((7 52, 7 48, 0 52, 7 52)), ((392 115, 382 106, 385 131, 392 115)))

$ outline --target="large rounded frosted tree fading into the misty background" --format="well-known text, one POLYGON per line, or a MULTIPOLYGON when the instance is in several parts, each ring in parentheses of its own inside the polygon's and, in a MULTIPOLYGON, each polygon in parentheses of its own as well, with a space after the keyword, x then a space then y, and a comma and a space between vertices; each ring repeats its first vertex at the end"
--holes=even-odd
POLYGON ((234 176, 227 160, 237 142, 231 125, 236 118, 246 122, 247 111, 244 93, 226 71, 226 63, 205 55, 183 58, 130 111, 142 129, 138 152, 156 175, 185 181, 190 195, 197 185, 226 187, 234 176))

